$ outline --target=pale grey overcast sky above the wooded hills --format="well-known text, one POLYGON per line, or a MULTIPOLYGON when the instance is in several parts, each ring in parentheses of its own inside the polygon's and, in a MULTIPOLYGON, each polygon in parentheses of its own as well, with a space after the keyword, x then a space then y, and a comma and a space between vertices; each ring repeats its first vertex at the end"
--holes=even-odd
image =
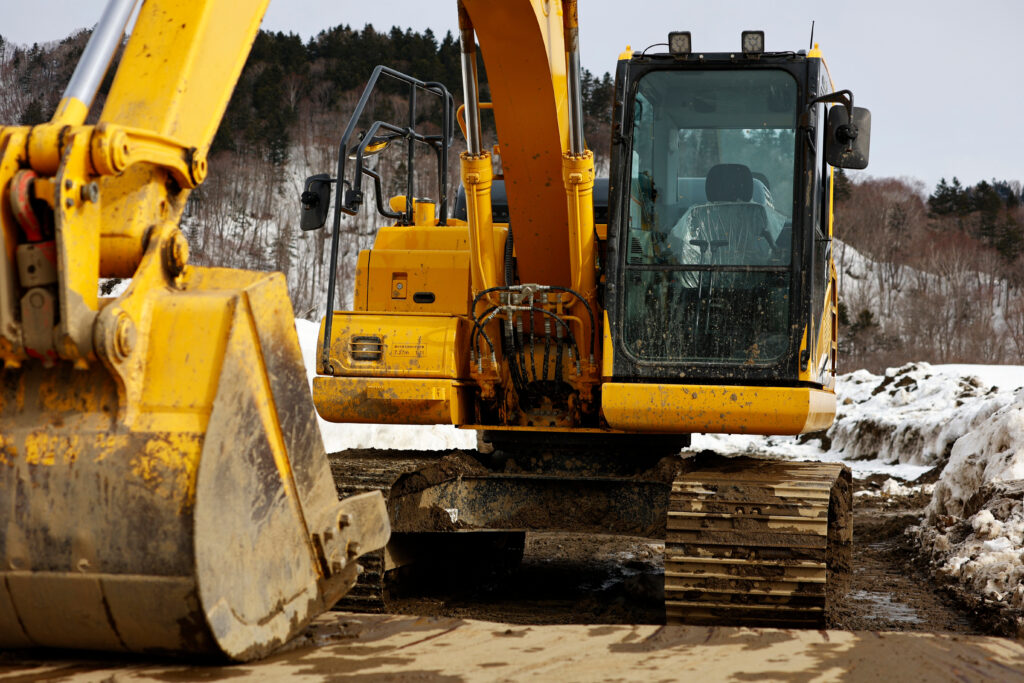
MULTIPOLYGON (((103 6, 0 0, 0 35, 55 40, 91 27, 103 6)), ((765 31, 769 50, 804 49, 812 19, 837 87, 871 110, 870 175, 919 178, 928 190, 942 176, 1024 180, 1022 0, 580 0, 583 62, 612 71, 627 44, 643 49, 672 30, 692 32, 697 51, 737 49, 749 29, 765 31)), ((440 38, 456 29, 456 2, 272 0, 263 28, 308 38, 339 24, 440 38)))

